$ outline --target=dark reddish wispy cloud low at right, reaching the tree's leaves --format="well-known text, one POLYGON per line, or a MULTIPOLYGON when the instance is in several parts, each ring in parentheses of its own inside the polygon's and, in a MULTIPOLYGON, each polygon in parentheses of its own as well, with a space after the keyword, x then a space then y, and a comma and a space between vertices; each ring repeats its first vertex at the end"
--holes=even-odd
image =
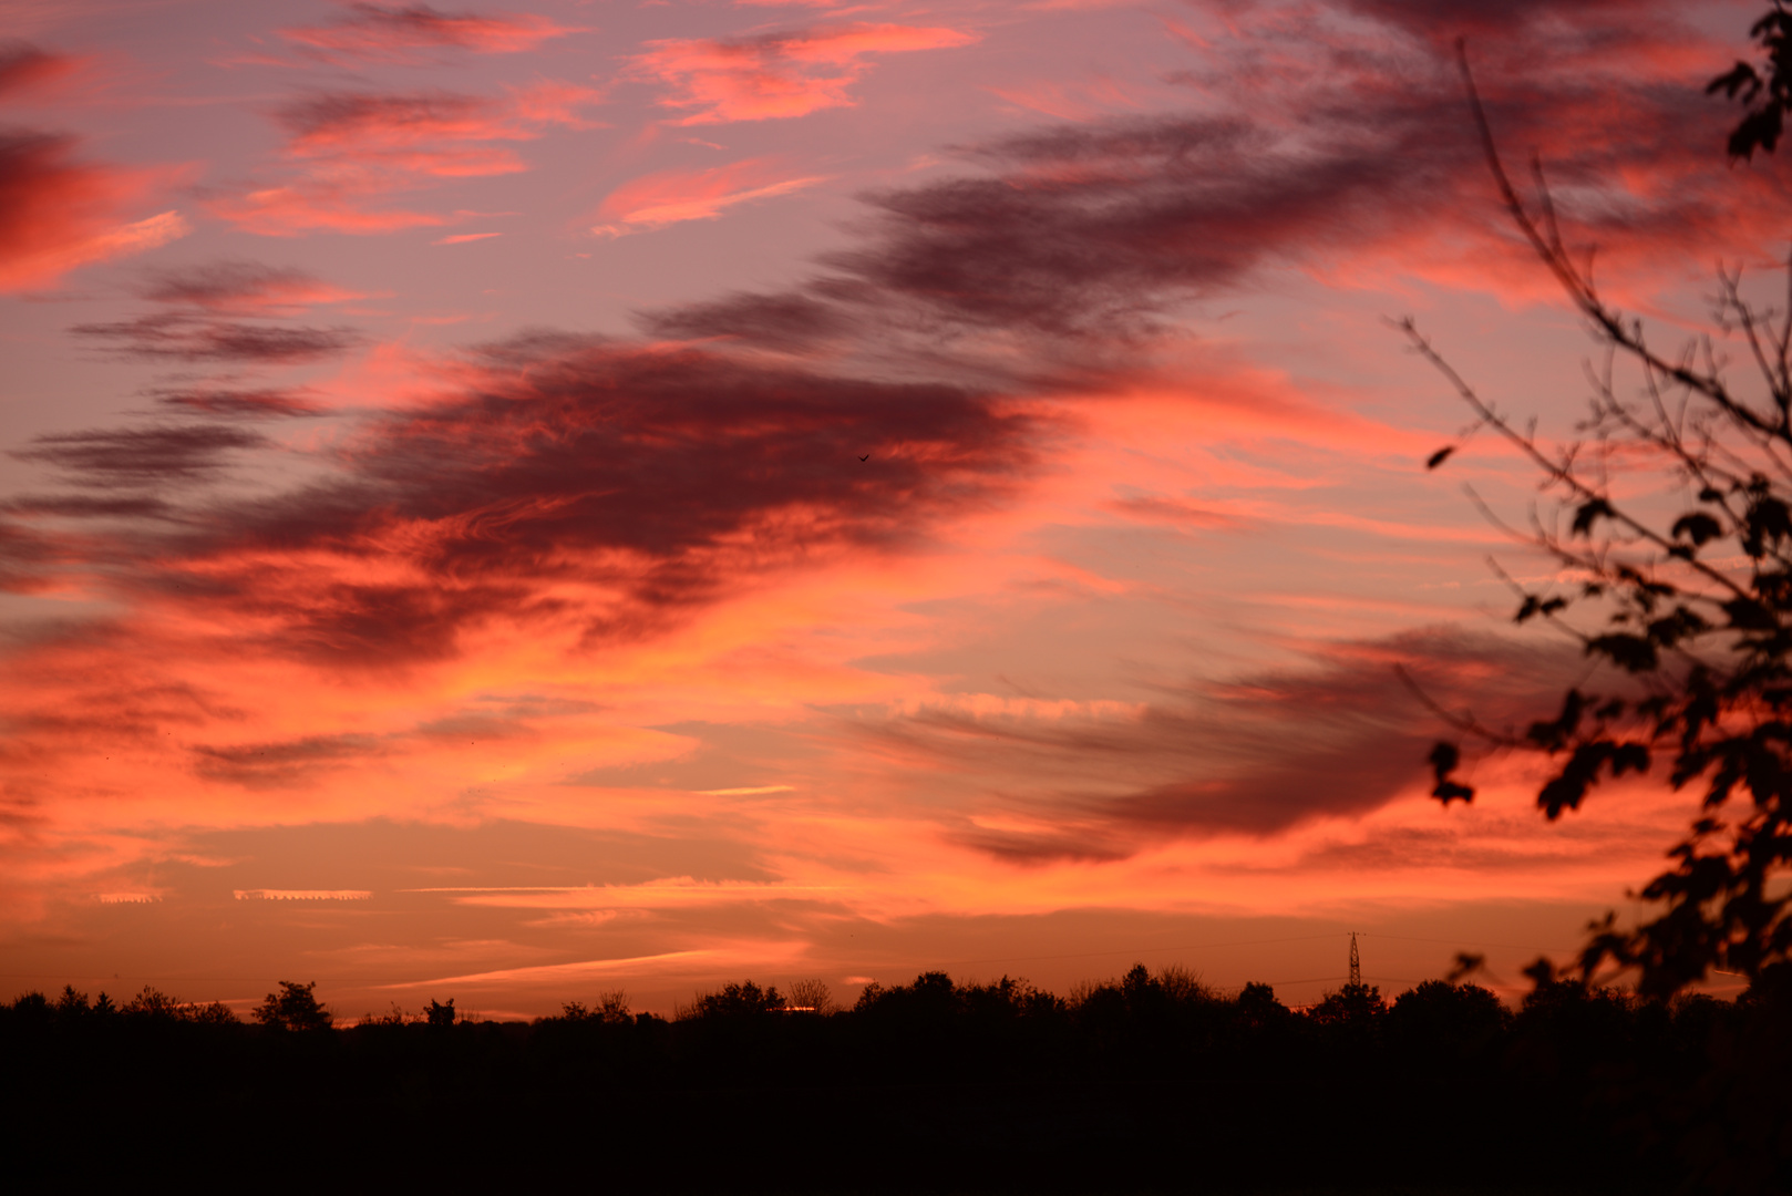
POLYGON ((918 769, 975 760, 1005 778, 1004 794, 982 796, 1004 816, 966 821, 950 841, 1018 864, 1122 859, 1176 837, 1360 818, 1410 796, 1450 728, 1396 667, 1432 701, 1495 728, 1536 717, 1539 689, 1588 683, 1573 646, 1432 628, 1317 647, 1306 667, 1192 683, 1131 715, 925 703, 857 726, 900 744, 892 758, 918 769))

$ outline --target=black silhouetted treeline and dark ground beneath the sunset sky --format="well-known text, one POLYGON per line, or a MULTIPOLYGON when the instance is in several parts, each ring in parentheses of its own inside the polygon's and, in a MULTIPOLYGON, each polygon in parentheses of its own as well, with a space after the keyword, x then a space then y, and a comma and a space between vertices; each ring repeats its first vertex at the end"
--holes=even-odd
POLYGON ((672 1018, 453 1001, 335 1026, 145 988, 0 1006, 14 1173, 616 1191, 1792 1191, 1792 972, 1736 1001, 1426 981, 1303 1011, 1134 966, 1057 997, 925 972, 837 1010, 747 981, 672 1018), (271 1171, 272 1169, 272 1171, 271 1171))

